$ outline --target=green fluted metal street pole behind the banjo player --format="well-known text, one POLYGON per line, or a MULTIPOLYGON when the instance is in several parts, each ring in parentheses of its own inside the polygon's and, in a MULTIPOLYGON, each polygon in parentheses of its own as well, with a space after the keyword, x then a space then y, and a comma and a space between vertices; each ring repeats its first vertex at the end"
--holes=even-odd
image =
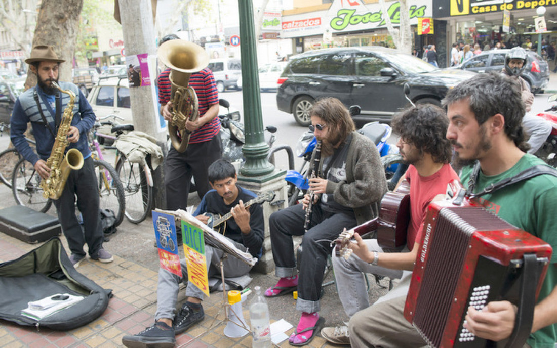
POLYGON ((267 161, 269 146, 263 134, 263 114, 257 69, 257 38, 253 24, 252 0, 239 0, 240 52, 242 55, 242 94, 246 144, 242 152, 246 163, 240 174, 261 177, 273 173, 275 166, 267 161))

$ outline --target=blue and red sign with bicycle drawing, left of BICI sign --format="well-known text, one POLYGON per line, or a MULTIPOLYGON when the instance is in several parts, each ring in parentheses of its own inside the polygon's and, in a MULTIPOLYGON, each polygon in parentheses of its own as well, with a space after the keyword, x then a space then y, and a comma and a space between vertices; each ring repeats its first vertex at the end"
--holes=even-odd
POLYGON ((174 215, 158 213, 153 210, 153 226, 157 248, 159 249, 160 268, 182 277, 174 215))

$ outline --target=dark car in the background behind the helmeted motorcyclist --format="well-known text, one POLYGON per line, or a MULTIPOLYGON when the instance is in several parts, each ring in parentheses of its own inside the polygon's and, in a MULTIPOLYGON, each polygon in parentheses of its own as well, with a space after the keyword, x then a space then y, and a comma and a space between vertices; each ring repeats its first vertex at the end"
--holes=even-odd
MULTIPOLYGON (((502 71, 505 67, 505 56, 510 50, 483 51, 477 56, 468 58, 458 67, 473 72, 502 71)), ((544 58, 534 51, 526 51, 526 68, 522 71, 522 78, 530 85, 533 93, 542 93, 549 82, 549 65, 544 58)))

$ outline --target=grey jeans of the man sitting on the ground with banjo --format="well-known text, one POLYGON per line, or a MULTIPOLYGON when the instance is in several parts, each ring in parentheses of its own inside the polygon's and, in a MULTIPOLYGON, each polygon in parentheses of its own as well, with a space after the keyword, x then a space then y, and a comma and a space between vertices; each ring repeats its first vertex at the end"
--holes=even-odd
MULTIPOLYGON (((241 251, 247 251, 247 248, 240 243, 234 242, 241 251)), ((221 257, 223 252, 211 246, 205 245, 205 258, 207 262, 207 275, 209 278, 221 274, 221 257)), ((168 272, 166 269, 159 268, 159 282, 157 284, 157 312, 155 313, 155 321, 160 318, 173 319, 175 315, 176 303, 178 302, 178 292, 180 283, 188 280, 188 268, 185 258, 180 259, 182 267, 182 277, 178 277, 174 273, 168 272)), ((240 277, 250 272, 251 266, 240 259, 228 255, 223 261, 223 273, 226 277, 240 277)), ((197 286, 188 282, 185 288, 186 297, 195 297, 203 300, 205 294, 197 286)))

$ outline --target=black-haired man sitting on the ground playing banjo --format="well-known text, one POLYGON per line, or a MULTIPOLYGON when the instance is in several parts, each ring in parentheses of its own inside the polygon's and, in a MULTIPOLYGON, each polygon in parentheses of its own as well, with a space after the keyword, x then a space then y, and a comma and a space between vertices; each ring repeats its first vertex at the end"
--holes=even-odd
MULTIPOLYGON (((260 204, 247 207, 248 200, 255 199, 256 194, 236 185, 238 180, 236 169, 226 160, 214 161, 209 166, 208 178, 213 189, 204 195, 194 215, 201 222, 207 223, 209 217, 203 215, 204 213, 219 215, 230 213, 232 219, 227 220, 224 236, 231 239, 234 246, 241 251, 247 251, 253 257, 260 257, 265 228, 263 209, 260 204)), ((205 253, 208 276, 220 275, 223 252, 206 244, 205 253)), ((204 294, 192 283, 188 283, 185 289, 187 301, 175 315, 180 282, 188 279, 185 258, 180 259, 180 266, 182 266, 182 278, 165 269, 159 269, 155 324, 137 335, 124 336, 122 343, 126 347, 142 346, 141 344, 149 347, 174 345, 176 342, 174 335, 181 334, 203 320, 201 301, 204 294)), ((228 256, 223 261, 223 272, 226 277, 241 277, 247 275, 250 269, 251 266, 233 256, 228 256)))

